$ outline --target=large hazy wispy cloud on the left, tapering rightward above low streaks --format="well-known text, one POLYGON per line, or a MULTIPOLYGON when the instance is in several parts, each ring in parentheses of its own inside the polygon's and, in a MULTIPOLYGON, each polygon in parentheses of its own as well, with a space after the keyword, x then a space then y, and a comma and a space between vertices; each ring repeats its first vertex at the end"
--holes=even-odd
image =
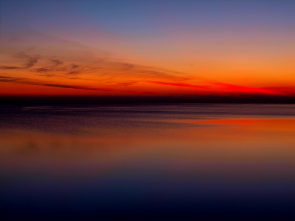
POLYGON ((190 79, 181 72, 114 61, 101 50, 37 32, 15 32, 6 36, 7 39, 4 35, 1 40, 3 38, 0 54, 5 55, 5 59, 1 60, 1 68, 15 70, 8 73, 11 76, 44 77, 43 80, 56 83, 58 79, 67 79, 69 83, 81 79, 87 81, 87 85, 100 82, 126 87, 147 80, 182 82, 190 79))

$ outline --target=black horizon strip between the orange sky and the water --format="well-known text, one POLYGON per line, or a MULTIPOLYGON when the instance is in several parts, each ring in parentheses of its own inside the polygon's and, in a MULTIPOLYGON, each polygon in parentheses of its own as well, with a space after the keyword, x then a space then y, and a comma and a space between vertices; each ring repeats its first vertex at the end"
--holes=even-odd
POLYGON ((148 103, 295 103, 294 96, 190 95, 190 96, 0 96, 0 105, 79 105, 148 103))

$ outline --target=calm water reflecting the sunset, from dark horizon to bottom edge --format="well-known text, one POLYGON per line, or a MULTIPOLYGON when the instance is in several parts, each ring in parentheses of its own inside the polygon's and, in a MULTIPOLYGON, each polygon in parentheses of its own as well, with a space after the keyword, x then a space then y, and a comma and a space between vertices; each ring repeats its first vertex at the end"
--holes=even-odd
POLYGON ((294 220, 294 104, 1 106, 1 220, 294 220))

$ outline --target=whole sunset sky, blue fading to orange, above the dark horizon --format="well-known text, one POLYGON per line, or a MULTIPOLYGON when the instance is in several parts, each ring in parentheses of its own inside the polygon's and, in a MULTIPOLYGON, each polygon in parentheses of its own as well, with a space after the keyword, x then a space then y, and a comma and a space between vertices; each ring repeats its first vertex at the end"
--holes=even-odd
POLYGON ((2 96, 295 96, 295 1, 0 6, 2 96))

